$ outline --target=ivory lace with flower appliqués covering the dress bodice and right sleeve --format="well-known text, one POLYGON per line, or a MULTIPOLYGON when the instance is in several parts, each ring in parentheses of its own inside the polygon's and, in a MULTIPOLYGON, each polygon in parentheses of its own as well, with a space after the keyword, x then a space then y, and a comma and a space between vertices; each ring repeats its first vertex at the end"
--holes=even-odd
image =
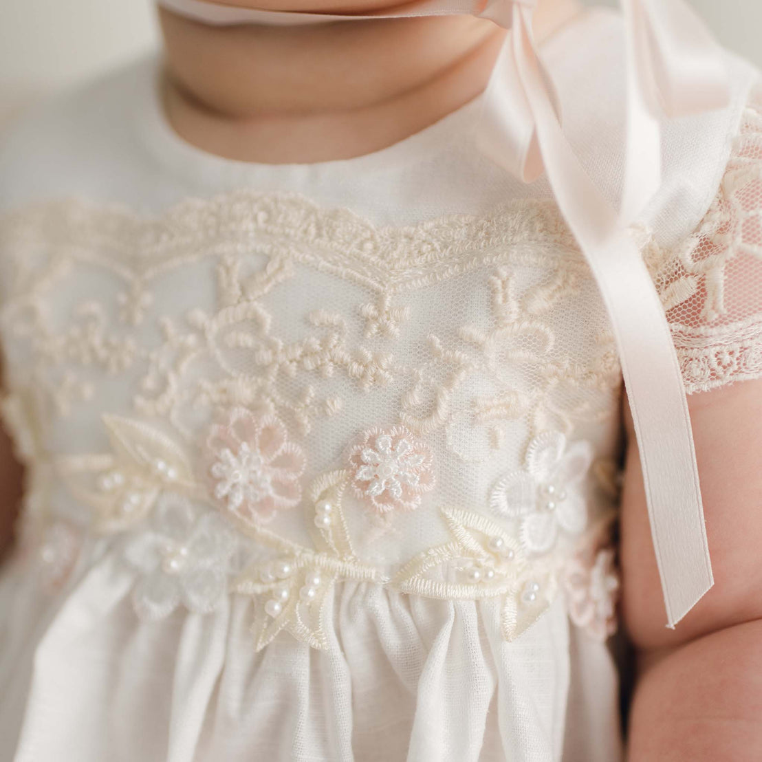
MULTIPOLYGON (((762 375, 738 268, 760 118, 690 242, 644 246, 690 391, 762 375)), ((92 531, 140 616, 248 595, 257 648, 324 647, 344 580, 498 601, 507 639, 564 591, 611 631, 590 527, 616 500, 620 368, 552 203, 379 228, 293 195, 158 219, 63 201, 3 221, 0 271, 3 411, 56 581, 92 531)))

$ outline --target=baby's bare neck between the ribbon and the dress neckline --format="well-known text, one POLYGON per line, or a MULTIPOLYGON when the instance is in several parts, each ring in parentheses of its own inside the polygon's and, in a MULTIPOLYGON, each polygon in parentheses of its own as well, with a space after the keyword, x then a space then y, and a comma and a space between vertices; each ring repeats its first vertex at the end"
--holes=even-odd
MULTIPOLYGON (((540 2, 536 34, 578 12, 540 2)), ((174 130, 248 162, 310 163, 392 145, 475 98, 504 32, 468 16, 207 27, 162 11, 174 130)))

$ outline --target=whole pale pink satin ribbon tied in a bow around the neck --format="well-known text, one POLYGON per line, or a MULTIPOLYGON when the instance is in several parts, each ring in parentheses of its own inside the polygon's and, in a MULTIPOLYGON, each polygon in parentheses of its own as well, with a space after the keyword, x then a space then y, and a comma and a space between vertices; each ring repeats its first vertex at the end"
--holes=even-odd
POLYGON ((622 0, 628 61, 628 139, 617 211, 588 177, 563 133, 555 92, 533 37, 536 0, 419 0, 370 14, 232 8, 159 0, 206 24, 315 24, 472 14, 510 30, 485 93, 477 141, 491 159, 531 182, 547 173, 610 316, 642 464, 668 626, 712 587, 687 400, 664 308, 626 226, 661 184, 661 117, 728 102, 722 52, 684 0, 622 0))

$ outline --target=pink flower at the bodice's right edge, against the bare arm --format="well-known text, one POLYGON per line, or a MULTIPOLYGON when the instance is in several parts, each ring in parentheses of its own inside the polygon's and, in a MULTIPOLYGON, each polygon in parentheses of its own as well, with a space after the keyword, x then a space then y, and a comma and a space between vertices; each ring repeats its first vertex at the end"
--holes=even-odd
POLYGON ((597 555, 576 555, 565 569, 564 587, 568 597, 569 617, 597 640, 606 640, 616 632, 616 600, 620 581, 616 573, 614 551, 597 555))

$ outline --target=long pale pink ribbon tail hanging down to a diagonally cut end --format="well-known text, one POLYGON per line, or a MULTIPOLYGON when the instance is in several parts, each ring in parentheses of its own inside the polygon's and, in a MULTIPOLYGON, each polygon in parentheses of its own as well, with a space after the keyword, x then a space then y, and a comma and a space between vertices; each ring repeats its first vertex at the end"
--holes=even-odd
POLYGON ((559 208, 610 315, 635 421, 668 626, 712 587, 703 506, 680 365, 664 309, 635 243, 569 146, 543 88, 531 15, 514 23, 515 66, 559 208))

